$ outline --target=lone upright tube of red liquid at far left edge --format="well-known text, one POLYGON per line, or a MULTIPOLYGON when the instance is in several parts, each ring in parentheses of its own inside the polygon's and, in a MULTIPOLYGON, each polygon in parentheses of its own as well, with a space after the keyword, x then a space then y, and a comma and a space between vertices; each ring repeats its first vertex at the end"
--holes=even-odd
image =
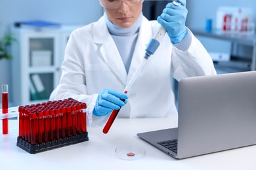
MULTIPOLYGON (((2 85, 2 109, 3 114, 8 113, 8 84, 2 85)), ((8 118, 3 119, 3 134, 8 134, 8 118)))

